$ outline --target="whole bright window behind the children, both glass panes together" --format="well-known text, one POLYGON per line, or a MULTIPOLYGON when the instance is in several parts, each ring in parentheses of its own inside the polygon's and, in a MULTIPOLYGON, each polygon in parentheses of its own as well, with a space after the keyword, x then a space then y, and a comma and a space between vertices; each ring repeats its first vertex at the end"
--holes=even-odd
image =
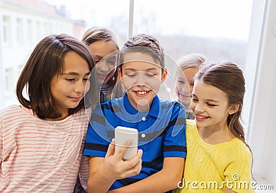
MULTIPOLYGON (((113 30, 121 44, 128 39, 130 1, 33 2, 0 3, 0 88, 5 87, 6 70, 15 69, 11 72, 14 80, 9 94, 0 94, 0 108, 17 103, 17 69, 21 69, 34 46, 46 35, 63 32, 81 38, 86 29, 101 26, 113 30), (18 46, 20 42, 22 46, 18 46)), ((172 65, 186 54, 201 53, 210 61, 230 60, 244 68, 251 7, 252 0, 134 0, 132 32, 157 36, 172 65)), ((167 68, 169 75, 173 75, 175 66, 167 68)), ((173 80, 168 76, 166 81, 170 85, 173 80)), ((166 89, 174 92, 174 88, 166 89)))

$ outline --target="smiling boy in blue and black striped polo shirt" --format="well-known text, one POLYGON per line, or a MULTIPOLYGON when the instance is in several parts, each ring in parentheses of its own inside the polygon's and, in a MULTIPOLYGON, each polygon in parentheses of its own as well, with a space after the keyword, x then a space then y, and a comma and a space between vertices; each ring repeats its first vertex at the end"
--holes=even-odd
POLYGON ((155 37, 139 34, 124 44, 119 61, 126 92, 96 107, 88 126, 84 150, 90 156, 88 191, 168 192, 183 174, 186 112, 177 101, 160 101, 157 96, 167 75, 164 49, 155 37), (140 150, 129 161, 122 159, 126 148, 114 151, 117 126, 139 131, 140 150))

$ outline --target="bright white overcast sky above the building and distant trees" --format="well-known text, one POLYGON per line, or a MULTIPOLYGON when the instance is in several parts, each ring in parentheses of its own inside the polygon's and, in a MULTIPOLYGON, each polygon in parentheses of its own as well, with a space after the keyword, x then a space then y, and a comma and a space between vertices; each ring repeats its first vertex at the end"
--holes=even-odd
MULTIPOLYGON (((106 26, 113 17, 120 15, 124 15, 124 19, 127 20, 130 2, 128 0, 46 1, 57 6, 66 5, 72 19, 84 19, 89 26, 106 26)), ((134 17, 152 18, 154 15, 155 25, 152 27, 158 28, 162 34, 185 33, 204 37, 248 38, 253 0, 134 1, 134 17)), ((139 19, 135 21, 138 22, 139 19)))

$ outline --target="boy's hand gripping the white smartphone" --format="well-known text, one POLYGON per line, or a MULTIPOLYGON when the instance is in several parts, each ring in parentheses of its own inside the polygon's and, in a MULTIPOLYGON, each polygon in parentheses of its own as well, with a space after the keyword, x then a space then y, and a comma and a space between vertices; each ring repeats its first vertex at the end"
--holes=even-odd
POLYGON ((130 160, 124 161, 123 156, 128 149, 131 141, 126 141, 124 147, 119 147, 115 152, 115 139, 112 139, 106 157, 103 161, 103 170, 106 170, 106 175, 112 179, 124 179, 128 176, 135 176, 141 171, 141 156, 142 150, 138 150, 137 155, 130 160))

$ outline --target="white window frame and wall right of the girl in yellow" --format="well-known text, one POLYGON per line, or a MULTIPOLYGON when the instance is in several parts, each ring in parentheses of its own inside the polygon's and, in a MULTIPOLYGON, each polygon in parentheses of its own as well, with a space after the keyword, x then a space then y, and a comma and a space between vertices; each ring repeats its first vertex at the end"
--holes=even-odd
POLYGON ((275 0, 253 1, 245 73, 248 89, 245 109, 249 113, 244 117, 248 121, 248 142, 254 156, 253 175, 276 188, 275 0))

